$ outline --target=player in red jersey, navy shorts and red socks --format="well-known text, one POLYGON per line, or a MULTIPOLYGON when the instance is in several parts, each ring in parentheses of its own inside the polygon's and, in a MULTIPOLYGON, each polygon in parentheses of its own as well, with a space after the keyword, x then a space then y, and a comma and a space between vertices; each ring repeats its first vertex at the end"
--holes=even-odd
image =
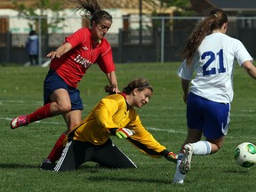
MULTIPOLYGON (((49 156, 44 159, 41 168, 52 166, 61 155, 62 141, 66 134, 82 121, 83 103, 80 92, 76 88, 86 70, 93 63, 98 63, 100 69, 107 75, 113 92, 119 92, 117 87, 115 64, 112 49, 104 38, 112 25, 112 16, 100 9, 96 0, 75 0, 76 11, 92 14, 92 28, 80 28, 54 51, 47 54, 52 59, 49 72, 44 79, 44 106, 31 114, 12 119, 11 128, 28 125, 32 122, 62 115, 68 130, 60 135, 49 156)), ((86 16, 87 17, 87 16, 86 16)), ((88 17, 87 17, 88 18, 88 17)))

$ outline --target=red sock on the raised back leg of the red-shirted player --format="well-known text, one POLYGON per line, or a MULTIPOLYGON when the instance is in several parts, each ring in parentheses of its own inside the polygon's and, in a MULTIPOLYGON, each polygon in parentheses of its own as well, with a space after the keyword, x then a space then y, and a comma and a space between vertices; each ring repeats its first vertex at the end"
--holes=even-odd
POLYGON ((28 114, 28 124, 52 116, 50 106, 51 103, 47 103, 42 108, 38 108, 33 113, 28 114))

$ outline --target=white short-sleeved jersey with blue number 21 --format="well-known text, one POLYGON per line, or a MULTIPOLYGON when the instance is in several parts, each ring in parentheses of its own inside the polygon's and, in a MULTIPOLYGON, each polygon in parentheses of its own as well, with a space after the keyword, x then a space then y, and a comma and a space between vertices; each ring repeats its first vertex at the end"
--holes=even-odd
POLYGON ((186 60, 177 74, 191 81, 190 91, 207 100, 230 103, 233 100, 233 69, 235 59, 241 66, 252 60, 251 55, 239 40, 222 33, 205 36, 189 67, 186 60))

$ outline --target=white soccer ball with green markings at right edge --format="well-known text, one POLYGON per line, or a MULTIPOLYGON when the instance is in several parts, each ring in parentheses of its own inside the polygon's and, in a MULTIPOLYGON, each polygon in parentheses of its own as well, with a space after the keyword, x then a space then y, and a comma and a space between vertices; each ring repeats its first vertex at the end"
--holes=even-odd
POLYGON ((250 142, 243 142, 236 147, 234 157, 240 166, 251 167, 256 164, 256 146, 250 142))

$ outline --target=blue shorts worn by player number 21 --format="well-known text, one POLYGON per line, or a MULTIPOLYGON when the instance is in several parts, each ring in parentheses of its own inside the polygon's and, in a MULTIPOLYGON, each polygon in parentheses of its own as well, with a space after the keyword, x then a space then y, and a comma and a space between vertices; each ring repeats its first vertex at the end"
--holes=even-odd
POLYGON ((219 139, 228 133, 230 108, 229 103, 206 100, 190 92, 187 104, 188 127, 202 131, 206 139, 219 139))

